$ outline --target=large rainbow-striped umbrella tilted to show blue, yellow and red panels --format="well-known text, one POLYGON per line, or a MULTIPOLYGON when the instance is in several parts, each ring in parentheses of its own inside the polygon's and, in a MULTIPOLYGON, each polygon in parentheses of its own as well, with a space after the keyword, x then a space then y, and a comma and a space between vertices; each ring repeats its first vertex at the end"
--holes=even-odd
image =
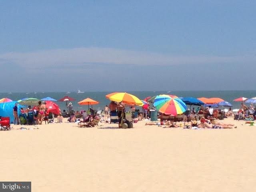
POLYGON ((177 96, 158 95, 155 98, 154 107, 161 113, 176 116, 187 110, 186 104, 177 96))

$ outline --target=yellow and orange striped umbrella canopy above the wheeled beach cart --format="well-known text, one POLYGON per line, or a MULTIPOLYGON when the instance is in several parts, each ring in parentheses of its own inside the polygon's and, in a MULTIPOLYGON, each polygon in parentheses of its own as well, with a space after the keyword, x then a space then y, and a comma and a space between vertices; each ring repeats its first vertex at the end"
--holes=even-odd
POLYGON ((141 100, 132 95, 128 94, 126 92, 114 92, 106 95, 106 98, 108 98, 110 101, 115 101, 115 102, 123 102, 124 104, 129 104, 129 105, 141 105, 142 102, 141 100))

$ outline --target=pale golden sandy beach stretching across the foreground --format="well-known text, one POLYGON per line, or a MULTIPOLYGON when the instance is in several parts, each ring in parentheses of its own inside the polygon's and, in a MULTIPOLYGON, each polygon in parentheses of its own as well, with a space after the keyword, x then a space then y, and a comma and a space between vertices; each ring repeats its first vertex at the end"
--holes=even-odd
POLYGON ((0 132, 1 180, 32 181, 33 192, 256 190, 255 126, 236 121, 236 129, 185 130, 144 123, 14 126, 0 132))

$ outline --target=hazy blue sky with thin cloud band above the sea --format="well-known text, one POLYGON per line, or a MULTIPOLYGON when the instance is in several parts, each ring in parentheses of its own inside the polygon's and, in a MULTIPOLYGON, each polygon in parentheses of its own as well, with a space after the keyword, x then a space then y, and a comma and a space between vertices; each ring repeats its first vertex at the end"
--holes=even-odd
POLYGON ((254 90, 255 8, 249 0, 2 0, 0 89, 254 90))

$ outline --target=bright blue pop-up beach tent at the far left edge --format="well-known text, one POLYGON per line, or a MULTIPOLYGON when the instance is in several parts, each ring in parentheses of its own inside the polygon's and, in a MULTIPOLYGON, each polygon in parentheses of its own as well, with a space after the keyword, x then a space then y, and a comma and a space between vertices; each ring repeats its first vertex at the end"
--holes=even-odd
MULTIPOLYGON (((6 102, 6 103, 0 103, 0 116, 2 117, 10 117, 10 122, 14 122, 14 116, 13 116, 13 107, 15 106, 15 103, 18 103, 16 101, 12 102, 6 102)), ((22 105, 18 104, 18 116, 20 115, 20 108, 22 108, 22 105)))

